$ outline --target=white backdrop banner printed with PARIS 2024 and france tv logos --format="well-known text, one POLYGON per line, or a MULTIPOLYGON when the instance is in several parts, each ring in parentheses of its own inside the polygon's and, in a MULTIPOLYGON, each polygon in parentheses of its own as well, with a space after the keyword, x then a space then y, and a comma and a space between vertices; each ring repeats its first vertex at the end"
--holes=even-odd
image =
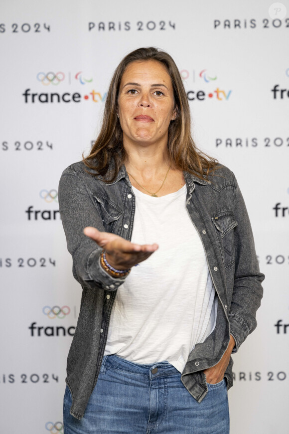
POLYGON ((288 0, 2 1, 1 433, 63 433, 81 287, 58 182, 89 152, 119 61, 151 45, 176 61, 197 145, 235 173, 266 274, 234 355, 231 432, 288 433, 288 42, 288 0))

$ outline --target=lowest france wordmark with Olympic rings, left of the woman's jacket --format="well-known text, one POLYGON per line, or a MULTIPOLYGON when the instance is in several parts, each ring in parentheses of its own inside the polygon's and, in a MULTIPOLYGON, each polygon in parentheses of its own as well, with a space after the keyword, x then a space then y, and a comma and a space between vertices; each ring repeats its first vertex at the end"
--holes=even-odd
MULTIPOLYGON (((64 320, 70 314, 69 306, 44 306, 42 308, 42 313, 49 320, 64 320)), ((65 327, 64 325, 46 325, 39 326, 37 322, 34 321, 28 327, 30 330, 30 336, 73 336, 75 332, 75 326, 65 327)))

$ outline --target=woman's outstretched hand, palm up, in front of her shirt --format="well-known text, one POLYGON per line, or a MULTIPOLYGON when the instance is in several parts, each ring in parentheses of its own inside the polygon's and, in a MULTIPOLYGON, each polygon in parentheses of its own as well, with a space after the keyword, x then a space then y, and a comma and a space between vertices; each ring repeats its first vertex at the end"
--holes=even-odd
POLYGON ((158 249, 157 244, 135 244, 119 235, 100 232, 91 226, 85 227, 83 232, 105 249, 108 263, 118 270, 132 268, 158 249))

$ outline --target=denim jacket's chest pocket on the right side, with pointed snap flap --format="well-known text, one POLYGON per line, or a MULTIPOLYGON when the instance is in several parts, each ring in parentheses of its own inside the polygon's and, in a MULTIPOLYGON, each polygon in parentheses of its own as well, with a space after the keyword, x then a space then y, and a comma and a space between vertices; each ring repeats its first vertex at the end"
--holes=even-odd
POLYGON ((225 267, 231 266, 235 261, 234 227, 238 222, 232 211, 223 211, 212 217, 225 267))

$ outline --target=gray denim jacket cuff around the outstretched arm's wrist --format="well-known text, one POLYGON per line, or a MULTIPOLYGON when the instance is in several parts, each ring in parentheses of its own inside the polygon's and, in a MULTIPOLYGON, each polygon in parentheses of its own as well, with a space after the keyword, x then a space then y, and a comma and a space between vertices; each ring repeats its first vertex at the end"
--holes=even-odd
POLYGON ((87 260, 87 273, 91 280, 99 282, 107 291, 115 291, 125 282, 126 276, 112 277, 108 274, 100 263, 101 252, 101 248, 97 248, 91 252, 87 260))

